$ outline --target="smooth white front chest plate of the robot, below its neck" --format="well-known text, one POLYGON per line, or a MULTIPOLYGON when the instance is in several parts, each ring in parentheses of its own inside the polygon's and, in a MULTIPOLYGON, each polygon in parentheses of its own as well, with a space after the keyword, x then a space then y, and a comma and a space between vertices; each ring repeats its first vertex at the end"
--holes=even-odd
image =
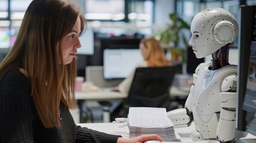
POLYGON ((220 80, 218 71, 203 69, 195 83, 194 107, 205 122, 212 114, 220 111, 220 80))

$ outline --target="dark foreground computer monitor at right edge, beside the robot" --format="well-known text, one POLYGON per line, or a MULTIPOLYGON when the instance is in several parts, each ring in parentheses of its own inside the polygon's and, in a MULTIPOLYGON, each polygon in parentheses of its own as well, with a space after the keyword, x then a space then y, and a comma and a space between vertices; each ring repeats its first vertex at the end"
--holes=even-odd
POLYGON ((240 7, 236 128, 256 135, 256 6, 240 7))

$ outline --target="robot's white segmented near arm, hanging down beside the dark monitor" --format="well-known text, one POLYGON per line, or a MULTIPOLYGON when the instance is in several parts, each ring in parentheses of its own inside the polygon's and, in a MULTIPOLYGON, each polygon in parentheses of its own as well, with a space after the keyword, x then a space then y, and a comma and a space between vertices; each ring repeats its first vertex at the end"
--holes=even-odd
POLYGON ((220 102, 220 120, 217 127, 217 139, 220 142, 238 141, 239 138, 245 137, 245 132, 235 129, 236 123, 236 75, 228 76, 223 80, 221 85, 220 102), (230 130, 227 132, 226 130, 230 130))

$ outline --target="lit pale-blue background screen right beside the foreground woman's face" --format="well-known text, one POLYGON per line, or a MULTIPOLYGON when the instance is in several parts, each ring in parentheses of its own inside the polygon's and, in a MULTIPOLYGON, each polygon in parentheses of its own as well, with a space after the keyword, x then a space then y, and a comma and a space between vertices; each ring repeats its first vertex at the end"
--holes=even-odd
POLYGON ((80 36, 81 48, 78 48, 77 54, 92 55, 94 54, 94 30, 90 27, 80 36))

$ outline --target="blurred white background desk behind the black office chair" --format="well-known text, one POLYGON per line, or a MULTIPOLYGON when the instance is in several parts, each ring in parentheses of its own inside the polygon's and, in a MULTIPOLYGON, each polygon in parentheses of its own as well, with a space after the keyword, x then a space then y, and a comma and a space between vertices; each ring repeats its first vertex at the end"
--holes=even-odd
MULTIPOLYGON (((112 88, 100 88, 95 92, 76 92, 76 100, 109 100, 127 98, 127 94, 112 91, 112 88)), ((170 89, 171 97, 189 95, 189 91, 178 89, 172 86, 170 89)))

